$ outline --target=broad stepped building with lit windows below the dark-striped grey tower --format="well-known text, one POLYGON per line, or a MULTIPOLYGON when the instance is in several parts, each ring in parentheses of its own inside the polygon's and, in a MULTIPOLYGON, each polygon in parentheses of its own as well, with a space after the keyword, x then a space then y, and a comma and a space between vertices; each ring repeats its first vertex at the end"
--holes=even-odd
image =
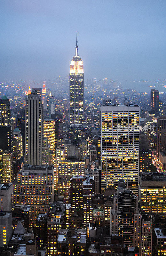
POLYGON ((13 204, 30 204, 34 225, 38 214, 47 212, 54 201, 53 166, 25 164, 13 185, 13 204))

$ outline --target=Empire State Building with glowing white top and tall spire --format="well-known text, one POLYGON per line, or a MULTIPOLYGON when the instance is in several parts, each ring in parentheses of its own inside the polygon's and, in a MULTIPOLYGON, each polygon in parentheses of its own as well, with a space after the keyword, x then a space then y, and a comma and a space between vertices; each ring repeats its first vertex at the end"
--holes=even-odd
POLYGON ((75 56, 70 64, 70 110, 69 123, 82 124, 84 115, 83 60, 78 55, 76 38, 75 56))

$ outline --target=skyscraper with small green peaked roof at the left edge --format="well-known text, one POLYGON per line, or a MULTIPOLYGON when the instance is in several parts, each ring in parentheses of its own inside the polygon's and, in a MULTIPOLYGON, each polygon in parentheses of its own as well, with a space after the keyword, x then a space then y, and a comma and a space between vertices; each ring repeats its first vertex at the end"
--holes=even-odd
POLYGON ((10 125, 10 102, 4 95, 0 100, 0 126, 10 125))

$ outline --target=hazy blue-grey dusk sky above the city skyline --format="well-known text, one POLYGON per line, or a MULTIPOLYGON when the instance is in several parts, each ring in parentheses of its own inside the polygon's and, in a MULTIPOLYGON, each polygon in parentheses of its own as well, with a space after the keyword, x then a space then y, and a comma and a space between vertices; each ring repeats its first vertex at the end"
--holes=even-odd
POLYGON ((166 79, 166 0, 1 0, 0 81, 166 79))

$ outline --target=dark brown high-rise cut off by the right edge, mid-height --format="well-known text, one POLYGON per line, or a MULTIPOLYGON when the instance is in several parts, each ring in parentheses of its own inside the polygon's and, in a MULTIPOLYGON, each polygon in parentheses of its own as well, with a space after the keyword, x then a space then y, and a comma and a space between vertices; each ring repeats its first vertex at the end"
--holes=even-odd
POLYGON ((157 118, 157 141, 156 156, 159 158, 159 152, 166 150, 166 116, 157 118))

